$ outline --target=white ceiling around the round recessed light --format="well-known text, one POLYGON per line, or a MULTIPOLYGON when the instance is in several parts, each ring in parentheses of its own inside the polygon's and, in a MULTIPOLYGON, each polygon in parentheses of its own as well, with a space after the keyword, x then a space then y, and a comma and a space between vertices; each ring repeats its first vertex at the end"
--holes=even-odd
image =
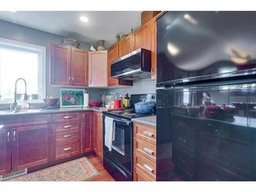
POLYGON ((105 40, 105 47, 116 41, 117 33, 130 33, 140 26, 141 11, 0 11, 0 19, 18 25, 72 37, 96 44, 105 40), (79 20, 87 16, 88 23, 79 20))

